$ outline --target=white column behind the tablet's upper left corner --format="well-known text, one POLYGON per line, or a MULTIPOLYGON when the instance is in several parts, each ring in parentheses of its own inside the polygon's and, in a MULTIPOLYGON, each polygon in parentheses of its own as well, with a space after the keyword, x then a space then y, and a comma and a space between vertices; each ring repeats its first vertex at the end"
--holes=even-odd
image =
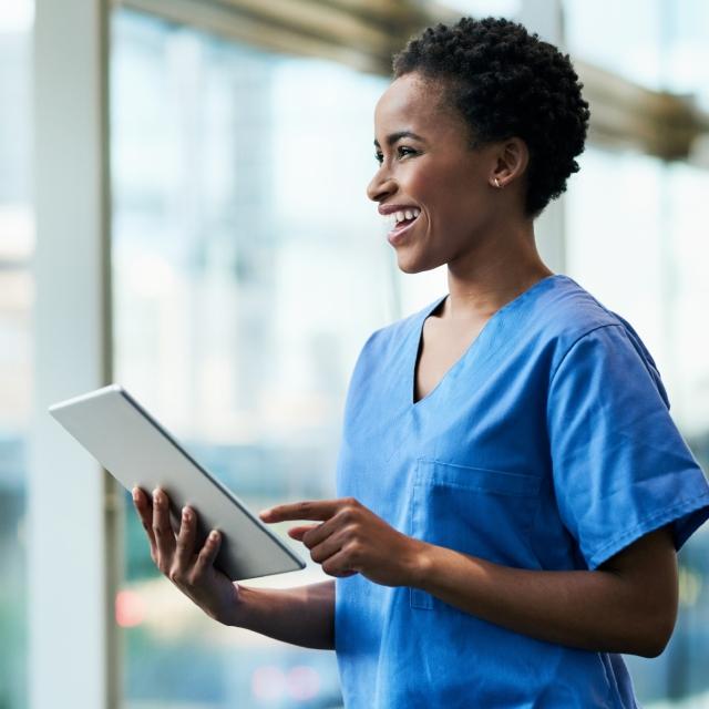
POLYGON ((111 377, 106 17, 103 0, 35 1, 31 709, 115 697, 113 487, 47 413, 111 377))

